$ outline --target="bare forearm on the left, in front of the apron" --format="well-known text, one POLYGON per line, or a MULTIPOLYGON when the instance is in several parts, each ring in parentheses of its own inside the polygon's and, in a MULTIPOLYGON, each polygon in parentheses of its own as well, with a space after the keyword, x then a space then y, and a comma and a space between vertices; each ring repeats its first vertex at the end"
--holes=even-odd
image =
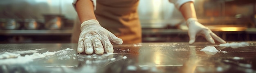
POLYGON ((96 20, 91 0, 78 0, 76 2, 76 12, 81 23, 86 20, 96 20))

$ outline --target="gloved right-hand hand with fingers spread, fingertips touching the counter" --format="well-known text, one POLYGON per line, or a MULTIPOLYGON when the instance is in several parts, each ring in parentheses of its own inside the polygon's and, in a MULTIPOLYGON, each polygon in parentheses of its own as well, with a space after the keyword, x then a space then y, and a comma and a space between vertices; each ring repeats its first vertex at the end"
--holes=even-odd
POLYGON ((195 36, 197 34, 204 35, 204 38, 211 44, 215 44, 214 40, 220 43, 226 43, 226 41, 222 40, 215 33, 213 33, 209 28, 200 24, 196 18, 189 18, 186 22, 189 27, 189 44, 193 44, 195 42, 195 36))

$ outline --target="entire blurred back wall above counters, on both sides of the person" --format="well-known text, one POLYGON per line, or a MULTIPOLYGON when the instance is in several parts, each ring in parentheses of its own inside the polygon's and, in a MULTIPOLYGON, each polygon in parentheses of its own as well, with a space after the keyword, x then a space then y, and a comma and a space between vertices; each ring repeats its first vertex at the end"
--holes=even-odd
MULTIPOLYGON (((43 14, 61 14, 74 20, 73 0, 0 0, 0 18, 43 19, 43 14)), ((184 19, 168 0, 140 0, 141 23, 178 24, 184 19), (164 23, 163 23, 164 22, 164 23)), ((254 26, 255 0, 195 0, 203 24, 249 24, 254 26)))

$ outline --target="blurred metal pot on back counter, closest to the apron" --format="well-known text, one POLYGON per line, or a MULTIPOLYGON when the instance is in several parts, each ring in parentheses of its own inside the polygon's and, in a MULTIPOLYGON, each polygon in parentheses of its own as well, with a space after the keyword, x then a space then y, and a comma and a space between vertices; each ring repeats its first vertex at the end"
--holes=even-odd
POLYGON ((46 29, 61 29, 63 26, 63 15, 45 14, 43 16, 46 29))

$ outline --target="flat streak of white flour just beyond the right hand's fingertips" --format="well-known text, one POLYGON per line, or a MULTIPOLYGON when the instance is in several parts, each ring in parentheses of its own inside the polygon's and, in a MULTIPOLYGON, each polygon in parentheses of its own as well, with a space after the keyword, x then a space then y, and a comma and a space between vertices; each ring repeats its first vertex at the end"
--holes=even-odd
POLYGON ((224 44, 220 44, 220 46, 249 46, 249 43, 247 42, 231 42, 231 43, 224 43, 224 44))

